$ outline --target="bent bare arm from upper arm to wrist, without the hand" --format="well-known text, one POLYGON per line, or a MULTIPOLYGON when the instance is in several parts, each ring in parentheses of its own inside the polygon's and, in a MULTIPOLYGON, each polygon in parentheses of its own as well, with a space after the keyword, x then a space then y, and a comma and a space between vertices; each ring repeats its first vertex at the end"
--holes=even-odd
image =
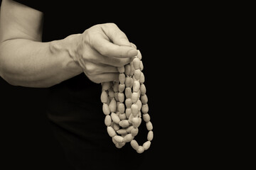
POLYGON ((47 87, 82 72, 68 49, 54 50, 54 42, 41 42, 43 13, 6 0, 0 17, 0 75, 10 84, 47 87))

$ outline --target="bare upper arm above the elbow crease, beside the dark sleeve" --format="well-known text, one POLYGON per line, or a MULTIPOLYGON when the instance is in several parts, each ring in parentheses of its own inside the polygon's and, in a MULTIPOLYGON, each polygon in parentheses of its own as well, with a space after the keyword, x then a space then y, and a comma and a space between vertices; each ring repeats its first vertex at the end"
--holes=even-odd
POLYGON ((3 0, 0 42, 15 38, 41 40, 43 13, 16 1, 3 0))

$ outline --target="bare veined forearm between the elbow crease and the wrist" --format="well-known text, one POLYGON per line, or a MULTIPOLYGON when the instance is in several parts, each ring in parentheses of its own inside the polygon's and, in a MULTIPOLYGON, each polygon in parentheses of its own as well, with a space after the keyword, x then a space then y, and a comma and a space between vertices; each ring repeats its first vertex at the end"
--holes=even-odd
POLYGON ((0 45, 0 75, 9 84, 29 87, 48 87, 59 84, 82 72, 74 62, 74 39, 70 35, 53 42, 25 39, 6 40, 0 45))

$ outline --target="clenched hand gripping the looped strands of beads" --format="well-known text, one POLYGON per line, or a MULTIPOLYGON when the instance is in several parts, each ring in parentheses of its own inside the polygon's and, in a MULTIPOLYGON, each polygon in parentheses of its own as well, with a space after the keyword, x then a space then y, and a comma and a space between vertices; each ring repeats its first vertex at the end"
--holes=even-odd
POLYGON ((80 35, 75 60, 95 83, 117 81, 117 67, 137 55, 136 46, 114 23, 92 26, 80 35))

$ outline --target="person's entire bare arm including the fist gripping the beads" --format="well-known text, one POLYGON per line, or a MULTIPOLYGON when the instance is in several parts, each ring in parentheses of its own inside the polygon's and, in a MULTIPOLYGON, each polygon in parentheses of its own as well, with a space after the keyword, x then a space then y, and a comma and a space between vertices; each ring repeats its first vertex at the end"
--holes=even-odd
POLYGON ((137 55, 114 23, 63 40, 42 42, 43 13, 4 0, 0 13, 0 76, 9 84, 48 87, 84 72, 95 82, 118 79, 117 67, 137 55))

